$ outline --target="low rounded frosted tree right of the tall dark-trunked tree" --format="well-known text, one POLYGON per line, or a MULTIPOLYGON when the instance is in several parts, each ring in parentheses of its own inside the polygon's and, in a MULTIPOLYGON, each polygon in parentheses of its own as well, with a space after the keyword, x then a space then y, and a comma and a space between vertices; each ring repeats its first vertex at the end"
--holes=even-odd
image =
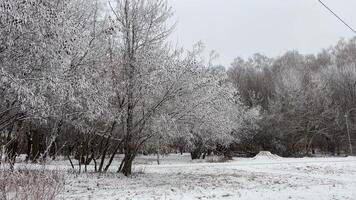
POLYGON ((153 122, 159 137, 168 140, 166 144, 180 141, 193 159, 239 140, 249 115, 227 81, 225 69, 199 60, 201 51, 198 44, 181 61, 176 69, 181 71, 179 91, 153 122))

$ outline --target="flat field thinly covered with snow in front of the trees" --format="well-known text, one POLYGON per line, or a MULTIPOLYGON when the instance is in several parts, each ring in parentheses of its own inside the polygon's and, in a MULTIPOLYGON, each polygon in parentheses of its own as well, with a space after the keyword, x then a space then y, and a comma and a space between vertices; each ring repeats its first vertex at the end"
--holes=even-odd
MULTIPOLYGON (((68 163, 56 161, 47 167, 66 171, 68 163)), ((113 172, 66 173, 58 198, 356 199, 356 157, 259 156, 209 163, 193 162, 186 154, 163 157, 158 166, 155 157, 141 156, 134 171, 129 178, 113 172)))

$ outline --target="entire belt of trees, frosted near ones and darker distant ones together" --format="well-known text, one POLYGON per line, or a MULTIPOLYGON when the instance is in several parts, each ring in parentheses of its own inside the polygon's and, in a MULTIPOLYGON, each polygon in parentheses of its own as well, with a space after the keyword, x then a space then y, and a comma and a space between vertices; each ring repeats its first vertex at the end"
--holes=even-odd
POLYGON ((201 43, 167 42, 172 14, 165 0, 1 0, 0 161, 65 155, 105 172, 120 153, 117 171, 129 175, 139 152, 352 146, 356 38, 317 55, 237 58, 226 70, 215 54, 202 58, 201 43))

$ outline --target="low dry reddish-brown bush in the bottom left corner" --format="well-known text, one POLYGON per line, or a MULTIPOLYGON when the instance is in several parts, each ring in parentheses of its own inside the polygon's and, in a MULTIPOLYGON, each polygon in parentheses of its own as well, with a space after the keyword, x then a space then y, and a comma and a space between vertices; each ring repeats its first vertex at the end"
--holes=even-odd
POLYGON ((54 171, 0 172, 0 199, 3 200, 53 200, 63 186, 63 176, 54 171))

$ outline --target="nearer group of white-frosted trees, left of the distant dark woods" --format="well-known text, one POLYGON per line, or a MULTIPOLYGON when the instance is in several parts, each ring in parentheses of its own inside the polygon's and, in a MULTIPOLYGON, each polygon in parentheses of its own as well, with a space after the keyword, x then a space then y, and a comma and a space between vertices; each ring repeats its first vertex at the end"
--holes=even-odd
POLYGON ((172 47, 165 0, 1 0, 0 145, 131 174, 140 150, 226 154, 259 118, 223 67, 172 47))

